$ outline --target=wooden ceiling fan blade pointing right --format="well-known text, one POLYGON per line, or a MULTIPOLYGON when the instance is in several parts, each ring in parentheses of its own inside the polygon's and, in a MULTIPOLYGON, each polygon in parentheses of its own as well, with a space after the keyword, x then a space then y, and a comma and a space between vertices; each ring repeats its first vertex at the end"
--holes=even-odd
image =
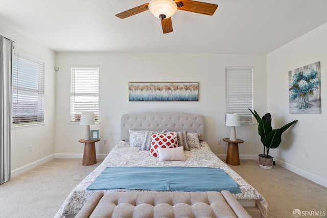
POLYGON ((191 0, 181 0, 176 2, 177 9, 190 11, 205 15, 213 15, 218 8, 218 5, 204 2, 196 2, 191 0))

